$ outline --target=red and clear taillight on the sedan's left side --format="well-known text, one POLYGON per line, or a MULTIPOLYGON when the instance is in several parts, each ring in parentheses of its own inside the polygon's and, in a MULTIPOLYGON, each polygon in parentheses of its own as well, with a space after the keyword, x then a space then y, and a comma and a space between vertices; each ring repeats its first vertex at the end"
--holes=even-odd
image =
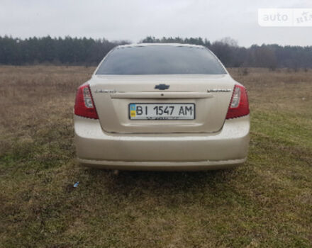
POLYGON ((76 101, 74 103, 74 114, 99 119, 94 106, 89 84, 82 84, 77 90, 76 101))

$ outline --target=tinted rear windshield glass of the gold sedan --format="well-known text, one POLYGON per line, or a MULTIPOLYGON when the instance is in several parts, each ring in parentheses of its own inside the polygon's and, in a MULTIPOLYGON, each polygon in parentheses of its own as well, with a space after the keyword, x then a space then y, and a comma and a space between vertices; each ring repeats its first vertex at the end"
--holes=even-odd
POLYGON ((226 74, 204 47, 149 45, 117 47, 96 74, 226 74))

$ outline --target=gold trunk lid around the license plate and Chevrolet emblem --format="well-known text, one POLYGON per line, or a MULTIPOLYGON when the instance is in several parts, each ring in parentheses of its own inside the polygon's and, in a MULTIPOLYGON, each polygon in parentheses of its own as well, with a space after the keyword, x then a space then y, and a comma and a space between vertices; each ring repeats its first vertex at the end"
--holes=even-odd
POLYGON ((89 84, 108 133, 215 133, 223 127, 235 81, 225 74, 94 75, 89 84), (155 89, 159 84, 169 89, 155 89), (194 103, 195 118, 130 120, 131 103, 194 103))

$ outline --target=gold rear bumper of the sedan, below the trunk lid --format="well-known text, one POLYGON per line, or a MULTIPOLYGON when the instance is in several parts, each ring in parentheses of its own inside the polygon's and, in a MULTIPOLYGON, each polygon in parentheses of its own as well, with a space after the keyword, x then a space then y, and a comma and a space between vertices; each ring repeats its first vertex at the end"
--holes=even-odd
POLYGON ((99 120, 74 115, 78 161, 108 169, 223 169, 245 162, 250 117, 225 120, 218 133, 105 133, 99 120))

